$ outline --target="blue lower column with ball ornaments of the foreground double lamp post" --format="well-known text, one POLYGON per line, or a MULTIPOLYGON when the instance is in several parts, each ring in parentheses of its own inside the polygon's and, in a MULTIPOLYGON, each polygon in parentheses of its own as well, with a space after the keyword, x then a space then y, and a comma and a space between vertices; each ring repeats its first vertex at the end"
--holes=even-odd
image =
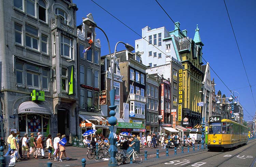
POLYGON ((110 148, 109 148, 109 155, 110 155, 110 160, 109 160, 109 167, 110 166, 118 166, 118 163, 116 161, 116 138, 114 137, 114 126, 117 123, 117 119, 115 118, 116 112, 116 105, 115 105, 115 93, 116 90, 112 89, 109 94, 110 94, 110 105, 109 108, 111 109, 111 111, 109 112, 110 114, 110 118, 109 118, 109 124, 111 126, 109 126, 109 130, 110 130, 110 134, 109 134, 109 143, 110 143, 110 148))

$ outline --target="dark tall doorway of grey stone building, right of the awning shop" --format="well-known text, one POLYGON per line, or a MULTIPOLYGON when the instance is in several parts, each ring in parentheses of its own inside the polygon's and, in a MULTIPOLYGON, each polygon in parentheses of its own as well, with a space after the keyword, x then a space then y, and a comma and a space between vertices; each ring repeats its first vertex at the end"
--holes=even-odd
POLYGON ((58 109, 58 133, 69 137, 69 111, 66 109, 58 109))

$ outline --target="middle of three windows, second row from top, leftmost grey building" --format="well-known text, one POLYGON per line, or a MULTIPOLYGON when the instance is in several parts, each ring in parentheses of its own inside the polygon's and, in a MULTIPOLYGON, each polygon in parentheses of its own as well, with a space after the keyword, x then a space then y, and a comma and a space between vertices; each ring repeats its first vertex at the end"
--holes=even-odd
POLYGON ((38 39, 34 37, 34 35, 38 36, 38 29, 26 25, 26 32, 33 34, 26 34, 26 46, 38 50, 38 39))

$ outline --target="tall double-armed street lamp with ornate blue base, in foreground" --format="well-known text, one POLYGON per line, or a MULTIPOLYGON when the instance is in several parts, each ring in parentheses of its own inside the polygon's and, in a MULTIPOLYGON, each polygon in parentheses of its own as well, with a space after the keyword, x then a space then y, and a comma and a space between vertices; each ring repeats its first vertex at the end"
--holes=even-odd
POLYGON ((109 39, 108 39, 108 36, 106 35, 106 33, 100 28, 97 26, 97 24, 91 19, 91 18, 85 18, 83 19, 83 22, 84 24, 90 26, 90 27, 96 27, 98 29, 100 29, 104 35, 106 36, 106 39, 108 41, 108 46, 109 46, 109 56, 110 56, 110 65, 111 65, 111 90, 110 90, 110 105, 109 108, 111 109, 111 111, 109 112, 110 114, 110 118, 108 120, 109 124, 111 126, 109 126, 109 129, 110 129, 110 135, 109 135, 109 142, 110 142, 110 148, 109 148, 109 153, 110 153, 110 160, 109 160, 109 164, 108 166, 118 166, 118 163, 116 161, 116 152, 117 152, 117 148, 116 148, 116 138, 114 136, 114 133, 116 132, 116 130, 114 130, 114 126, 116 125, 117 123, 117 119, 115 118, 115 115, 116 115, 116 112, 115 112, 115 109, 116 109, 116 105, 115 105, 115 92, 116 90, 114 89, 114 63, 115 63, 115 54, 116 54, 116 47, 117 47, 117 44, 118 43, 123 43, 125 45, 125 47, 132 51, 134 50, 134 48, 127 44, 127 43, 124 43, 124 42, 117 42, 116 43, 116 46, 115 46, 115 52, 114 52, 114 58, 113 58, 113 65, 112 65, 112 58, 111 58, 111 50, 110 50, 110 43, 109 43, 109 39), (115 132, 114 132, 115 131, 115 132))

